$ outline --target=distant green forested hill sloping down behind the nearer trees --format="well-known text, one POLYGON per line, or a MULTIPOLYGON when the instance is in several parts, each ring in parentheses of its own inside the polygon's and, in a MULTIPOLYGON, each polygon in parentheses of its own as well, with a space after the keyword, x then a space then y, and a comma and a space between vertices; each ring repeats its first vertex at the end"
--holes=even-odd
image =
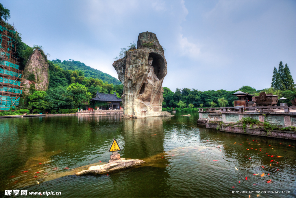
POLYGON ((97 69, 91 68, 90 66, 85 65, 84 63, 81 63, 77 60, 64 60, 63 62, 59 59, 52 60, 54 64, 58 64, 63 69, 69 69, 69 70, 80 70, 84 72, 85 77, 92 77, 92 78, 99 78, 103 81, 108 81, 109 84, 121 84, 121 82, 110 76, 109 74, 106 74, 102 71, 99 71, 97 69))

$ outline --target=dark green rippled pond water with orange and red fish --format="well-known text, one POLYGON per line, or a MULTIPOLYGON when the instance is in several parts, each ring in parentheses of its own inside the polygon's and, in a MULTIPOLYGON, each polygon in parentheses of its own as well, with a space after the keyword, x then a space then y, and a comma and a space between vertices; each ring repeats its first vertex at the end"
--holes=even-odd
POLYGON ((249 197, 249 191, 251 197, 295 197, 295 141, 206 129, 196 124, 198 113, 181 114, 0 119, 0 196, 25 189, 28 195, 20 197, 46 191, 61 195, 37 197, 249 197), (108 162, 113 138, 121 157, 146 163, 73 175, 108 162), (290 193, 256 192, 278 190, 290 193))

